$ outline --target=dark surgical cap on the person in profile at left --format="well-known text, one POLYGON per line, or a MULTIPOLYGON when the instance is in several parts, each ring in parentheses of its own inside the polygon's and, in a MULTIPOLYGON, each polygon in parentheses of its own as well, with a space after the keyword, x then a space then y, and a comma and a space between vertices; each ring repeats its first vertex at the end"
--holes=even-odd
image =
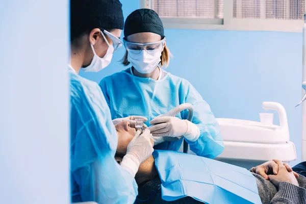
POLYGON ((119 0, 70 0, 71 41, 95 28, 123 30, 121 7, 119 0))

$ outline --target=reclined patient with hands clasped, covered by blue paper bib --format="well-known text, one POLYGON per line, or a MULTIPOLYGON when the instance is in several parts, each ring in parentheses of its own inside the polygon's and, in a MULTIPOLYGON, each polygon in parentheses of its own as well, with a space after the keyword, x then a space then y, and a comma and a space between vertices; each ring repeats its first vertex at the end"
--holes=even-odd
MULTIPOLYGON (((120 164, 136 130, 115 125, 120 164)), ((136 203, 306 203, 306 178, 294 176, 281 161, 270 181, 244 168, 195 155, 155 150, 135 176, 136 203)))

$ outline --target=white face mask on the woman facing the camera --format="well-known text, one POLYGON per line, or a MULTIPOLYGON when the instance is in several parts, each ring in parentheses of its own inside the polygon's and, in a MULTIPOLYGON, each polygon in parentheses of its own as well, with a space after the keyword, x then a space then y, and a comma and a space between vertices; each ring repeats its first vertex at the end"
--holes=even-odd
POLYGON ((140 73, 151 73, 161 61, 162 52, 160 49, 154 50, 132 50, 127 54, 127 61, 140 73))

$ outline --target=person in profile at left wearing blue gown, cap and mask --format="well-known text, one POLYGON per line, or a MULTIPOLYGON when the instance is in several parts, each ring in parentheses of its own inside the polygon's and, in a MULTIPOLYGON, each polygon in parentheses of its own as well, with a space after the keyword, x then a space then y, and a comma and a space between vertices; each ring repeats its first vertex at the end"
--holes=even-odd
POLYGON ((71 0, 70 186, 71 201, 134 203, 135 174, 154 150, 149 131, 137 132, 124 164, 115 159, 118 136, 101 89, 78 75, 109 65, 120 48, 123 15, 118 0, 71 0))

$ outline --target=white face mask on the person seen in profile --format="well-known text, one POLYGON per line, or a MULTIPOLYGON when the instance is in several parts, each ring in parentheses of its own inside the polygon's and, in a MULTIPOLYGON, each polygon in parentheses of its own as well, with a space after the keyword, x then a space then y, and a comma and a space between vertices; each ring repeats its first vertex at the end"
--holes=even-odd
POLYGON ((87 67, 83 67, 82 70, 83 71, 91 71, 91 72, 98 72, 102 69, 104 69, 105 67, 107 67, 113 58, 113 52, 114 52, 114 47, 112 45, 109 45, 107 52, 105 54, 105 56, 103 58, 100 58, 94 51, 93 45, 90 44, 92 52, 93 52, 93 58, 92 61, 90 63, 90 65, 88 65, 87 67))

